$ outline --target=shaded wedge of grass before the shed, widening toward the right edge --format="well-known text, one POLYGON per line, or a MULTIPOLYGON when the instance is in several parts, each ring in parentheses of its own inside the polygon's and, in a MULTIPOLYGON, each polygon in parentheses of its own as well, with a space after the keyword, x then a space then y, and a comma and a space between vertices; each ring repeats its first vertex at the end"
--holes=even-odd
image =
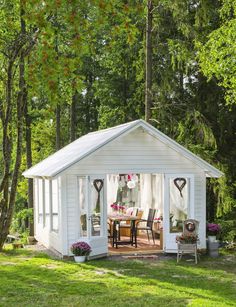
POLYGON ((216 302, 217 298, 221 302, 223 299, 226 304, 236 306, 236 280, 235 275, 233 275, 236 269, 236 259, 230 265, 228 263, 222 265, 222 259, 217 259, 216 265, 214 260, 205 257, 205 261, 197 266, 194 263, 181 263, 177 265, 176 260, 169 260, 165 261, 163 266, 160 266, 160 269, 158 269, 158 265, 155 269, 155 262, 157 263, 155 260, 138 260, 130 263, 125 261, 117 265, 114 265, 114 262, 109 264, 106 261, 95 261, 94 265, 96 268, 113 268, 113 270, 115 269, 118 272, 123 271, 125 276, 139 277, 142 279, 143 284, 160 286, 158 285, 159 283, 164 283, 165 289, 173 290, 173 287, 176 287, 177 291, 182 292, 183 295, 188 293, 193 295, 193 297, 213 300, 214 302, 216 302))

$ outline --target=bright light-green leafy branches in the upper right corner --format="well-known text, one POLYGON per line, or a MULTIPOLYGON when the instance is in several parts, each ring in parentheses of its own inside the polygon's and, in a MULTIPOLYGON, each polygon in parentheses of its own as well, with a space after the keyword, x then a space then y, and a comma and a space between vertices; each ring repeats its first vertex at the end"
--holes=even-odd
POLYGON ((212 31, 205 44, 199 44, 201 69, 210 79, 215 77, 226 91, 228 104, 236 102, 236 2, 223 1, 221 24, 212 31))

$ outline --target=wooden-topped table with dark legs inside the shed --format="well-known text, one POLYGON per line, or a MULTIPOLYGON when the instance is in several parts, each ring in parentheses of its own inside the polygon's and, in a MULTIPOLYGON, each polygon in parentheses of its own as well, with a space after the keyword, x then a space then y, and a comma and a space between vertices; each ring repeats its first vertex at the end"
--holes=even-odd
POLYGON ((137 216, 132 215, 108 215, 108 219, 112 225, 112 247, 124 244, 131 244, 137 247, 137 236, 136 236, 136 229, 135 229, 135 221, 139 220, 137 216), (120 222, 121 221, 130 221, 130 240, 121 241, 120 240, 120 222))

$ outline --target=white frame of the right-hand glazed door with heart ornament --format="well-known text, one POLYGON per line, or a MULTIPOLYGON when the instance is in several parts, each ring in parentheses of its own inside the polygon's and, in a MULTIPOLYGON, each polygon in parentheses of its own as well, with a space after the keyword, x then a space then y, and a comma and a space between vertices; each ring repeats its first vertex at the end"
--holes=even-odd
POLYGON ((188 218, 194 219, 194 192, 195 192, 195 178, 194 174, 189 173, 171 173, 164 174, 164 186, 163 186, 163 250, 166 253, 176 253, 177 245, 175 238, 181 233, 170 233, 170 194, 169 194, 169 179, 183 177, 189 179, 189 207, 188 218))

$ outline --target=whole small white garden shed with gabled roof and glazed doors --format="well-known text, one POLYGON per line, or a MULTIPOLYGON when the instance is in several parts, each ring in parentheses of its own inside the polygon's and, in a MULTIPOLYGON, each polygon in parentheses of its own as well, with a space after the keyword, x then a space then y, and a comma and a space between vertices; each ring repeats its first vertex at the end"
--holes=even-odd
POLYGON ((103 256, 108 253, 107 214, 122 176, 134 176, 137 186, 124 204, 156 208, 157 216, 163 216, 163 249, 176 252, 178 223, 187 217, 200 221, 200 248, 206 248, 206 177, 223 173, 136 120, 82 136, 23 175, 34 179, 36 239, 62 256, 71 255, 72 243, 87 241, 91 256, 103 256), (102 182, 99 193, 94 181, 102 182))

